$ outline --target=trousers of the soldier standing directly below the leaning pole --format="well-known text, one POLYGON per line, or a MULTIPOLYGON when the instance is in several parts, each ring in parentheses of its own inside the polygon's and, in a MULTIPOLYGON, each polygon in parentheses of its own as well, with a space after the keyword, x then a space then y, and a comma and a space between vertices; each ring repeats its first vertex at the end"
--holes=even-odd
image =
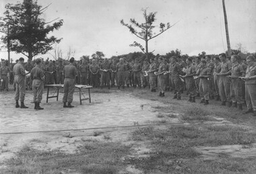
POLYGON ((230 97, 230 79, 226 76, 220 76, 219 93, 222 101, 231 101, 230 97))

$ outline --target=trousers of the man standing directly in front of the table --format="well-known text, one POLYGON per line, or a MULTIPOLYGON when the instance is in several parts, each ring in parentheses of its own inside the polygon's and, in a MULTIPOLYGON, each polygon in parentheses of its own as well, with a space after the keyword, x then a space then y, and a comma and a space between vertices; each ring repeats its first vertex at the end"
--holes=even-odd
POLYGON ((71 103, 73 101, 73 93, 75 91, 75 79, 65 78, 63 91, 63 102, 71 103))

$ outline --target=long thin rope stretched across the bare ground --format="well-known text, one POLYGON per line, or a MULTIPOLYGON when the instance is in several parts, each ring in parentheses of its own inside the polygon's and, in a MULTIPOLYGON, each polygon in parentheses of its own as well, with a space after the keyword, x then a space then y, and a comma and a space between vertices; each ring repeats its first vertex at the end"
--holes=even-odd
POLYGON ((31 132, 0 132, 0 135, 3 135, 3 134, 34 134, 34 133, 46 133, 46 132, 66 132, 66 131, 97 130, 97 129, 109 129, 109 128, 132 128, 132 127, 142 127, 142 126, 164 126, 164 125, 172 125, 172 124, 184 124, 184 123, 141 124, 141 125, 133 125, 133 126, 110 126, 110 127, 64 129, 64 130, 42 130, 42 131, 31 131, 31 132))

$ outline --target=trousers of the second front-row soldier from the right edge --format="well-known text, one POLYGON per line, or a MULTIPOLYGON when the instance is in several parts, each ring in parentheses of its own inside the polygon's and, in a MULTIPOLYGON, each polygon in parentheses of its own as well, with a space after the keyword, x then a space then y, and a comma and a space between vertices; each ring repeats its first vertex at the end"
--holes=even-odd
POLYGON ((242 91, 243 81, 241 79, 231 79, 230 86, 230 97, 233 103, 243 104, 243 91, 242 91))

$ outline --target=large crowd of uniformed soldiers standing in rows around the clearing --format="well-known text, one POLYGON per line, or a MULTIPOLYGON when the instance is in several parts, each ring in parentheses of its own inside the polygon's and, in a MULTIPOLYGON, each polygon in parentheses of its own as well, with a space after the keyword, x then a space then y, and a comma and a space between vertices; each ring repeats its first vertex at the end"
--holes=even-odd
MULTIPOLYGON (((40 68, 44 74, 44 84, 63 84, 64 67, 68 60, 59 59, 42 62, 40 68)), ((92 85, 93 87, 149 87, 150 91, 164 97, 165 91, 173 91, 173 99, 181 99, 181 93, 187 91, 189 101, 195 102, 200 97, 200 103, 209 104, 210 99, 221 100, 221 105, 238 107, 243 110, 247 104, 247 112, 256 111, 256 68, 255 56, 247 56, 241 60, 238 55, 230 58, 222 53, 219 56, 199 56, 182 60, 181 56, 168 59, 155 58, 129 60, 118 59, 83 59, 72 63, 75 67, 74 83, 92 85)), ((24 66, 31 73, 34 65, 31 60, 24 66)), ((1 64, 1 90, 7 89, 7 73, 11 72, 1 64)), ((26 89, 32 89, 32 78, 26 77, 26 89)))

